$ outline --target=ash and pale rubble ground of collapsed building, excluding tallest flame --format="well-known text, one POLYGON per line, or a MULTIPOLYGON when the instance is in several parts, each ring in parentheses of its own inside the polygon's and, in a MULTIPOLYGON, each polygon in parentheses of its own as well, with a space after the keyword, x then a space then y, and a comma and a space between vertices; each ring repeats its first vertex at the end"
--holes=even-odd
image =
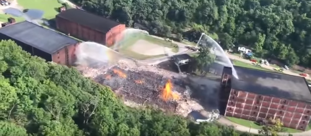
MULTIPOLYGON (((198 86, 204 95, 211 98, 193 94, 197 90, 191 85, 193 82, 186 75, 170 72, 149 65, 139 65, 132 60, 119 60, 109 67, 79 68, 86 77, 91 77, 94 81, 109 86, 117 95, 121 96, 128 106, 154 106, 167 112, 175 112, 182 116, 188 116, 192 111, 201 111, 206 108, 215 107, 204 105, 217 105, 215 90, 204 91, 202 86, 198 86), (164 100, 162 95, 168 81, 171 81, 172 93, 179 95, 179 99, 164 100), (202 92, 202 90, 204 92, 202 92), (199 96, 191 98, 191 96, 199 96), (201 101, 201 103, 200 103, 201 101), (203 103, 203 104, 202 104, 203 103)), ((200 80, 200 79, 196 79, 200 80)), ((202 80, 200 80, 202 81, 202 80)), ((195 81, 197 82, 197 81, 195 81)))

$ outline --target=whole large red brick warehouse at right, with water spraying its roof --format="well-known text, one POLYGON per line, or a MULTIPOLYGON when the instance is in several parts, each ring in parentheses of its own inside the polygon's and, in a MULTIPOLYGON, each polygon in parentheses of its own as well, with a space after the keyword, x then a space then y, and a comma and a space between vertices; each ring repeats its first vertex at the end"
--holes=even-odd
POLYGON ((311 115, 311 93, 304 77, 224 67, 220 113, 251 121, 279 118, 285 127, 305 130, 311 115))

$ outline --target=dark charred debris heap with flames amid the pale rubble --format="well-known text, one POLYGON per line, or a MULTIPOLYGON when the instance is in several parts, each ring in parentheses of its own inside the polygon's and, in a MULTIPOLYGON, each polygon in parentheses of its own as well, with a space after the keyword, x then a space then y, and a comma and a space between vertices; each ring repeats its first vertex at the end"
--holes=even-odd
POLYGON ((174 112, 178 106, 177 100, 186 99, 183 80, 169 79, 150 71, 123 70, 115 66, 94 80, 111 87, 125 100, 167 111, 174 112))

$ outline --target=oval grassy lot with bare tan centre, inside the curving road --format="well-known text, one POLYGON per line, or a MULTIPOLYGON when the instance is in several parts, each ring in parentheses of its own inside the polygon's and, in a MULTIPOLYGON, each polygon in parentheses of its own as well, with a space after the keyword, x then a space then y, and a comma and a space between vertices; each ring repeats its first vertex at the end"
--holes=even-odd
POLYGON ((163 50, 163 47, 170 48, 172 52, 178 52, 179 50, 178 46, 174 43, 157 39, 145 34, 137 34, 135 36, 125 37, 120 43, 119 52, 135 59, 151 59, 165 56, 165 54, 147 54, 148 51, 155 47, 154 45, 160 46, 160 50, 163 50), (142 44, 142 41, 146 42, 146 45, 142 44), (150 44, 147 42, 150 42, 150 44), (150 48, 148 47, 149 45, 150 48), (146 53, 140 53, 143 51, 146 53))

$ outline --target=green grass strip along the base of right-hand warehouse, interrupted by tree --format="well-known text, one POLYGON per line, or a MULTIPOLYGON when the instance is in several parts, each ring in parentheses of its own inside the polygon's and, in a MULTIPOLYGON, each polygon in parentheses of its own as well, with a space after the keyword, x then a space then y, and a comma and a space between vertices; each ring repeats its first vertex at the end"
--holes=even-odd
MULTIPOLYGON (((235 117, 226 117, 228 120, 239 124, 239 125, 243 125, 245 127, 248 128, 253 128, 253 129, 262 129, 262 126, 257 125, 254 121, 248 121, 248 120, 244 120, 244 119, 239 119, 239 118, 235 118, 235 117)), ((308 126, 306 128, 306 131, 310 130, 310 127, 308 126)), ((283 128, 282 132, 286 132, 286 133, 299 133, 299 132, 303 132, 301 130, 297 130, 297 129, 292 129, 292 128, 283 128)))

